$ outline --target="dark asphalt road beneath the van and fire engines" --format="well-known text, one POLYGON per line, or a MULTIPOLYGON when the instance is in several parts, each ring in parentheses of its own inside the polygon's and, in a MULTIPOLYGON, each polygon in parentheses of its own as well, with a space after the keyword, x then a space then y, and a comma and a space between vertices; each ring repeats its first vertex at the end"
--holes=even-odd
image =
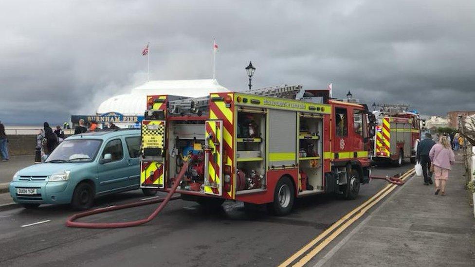
MULTIPOLYGON (((373 173, 393 175, 410 168, 407 163, 373 173)), ((67 228, 67 216, 75 213, 68 206, 4 211, 0 212, 0 266, 276 266, 385 184, 373 180, 361 187, 355 200, 325 195, 298 199, 286 217, 259 209, 246 211, 239 202, 225 202, 210 211, 178 199, 150 223, 127 229, 67 228)), ((98 199, 96 205, 141 198, 140 191, 133 191, 98 199)), ((135 220, 148 216, 156 205, 78 221, 135 220)))

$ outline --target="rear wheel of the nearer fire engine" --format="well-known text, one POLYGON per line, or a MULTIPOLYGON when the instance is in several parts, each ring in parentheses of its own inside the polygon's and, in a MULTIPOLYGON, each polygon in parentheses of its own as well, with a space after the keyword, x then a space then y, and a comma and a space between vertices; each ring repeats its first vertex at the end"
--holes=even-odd
POLYGON ((292 211, 295 190, 288 177, 282 177, 274 190, 274 202, 267 204, 267 209, 277 216, 284 216, 292 211))

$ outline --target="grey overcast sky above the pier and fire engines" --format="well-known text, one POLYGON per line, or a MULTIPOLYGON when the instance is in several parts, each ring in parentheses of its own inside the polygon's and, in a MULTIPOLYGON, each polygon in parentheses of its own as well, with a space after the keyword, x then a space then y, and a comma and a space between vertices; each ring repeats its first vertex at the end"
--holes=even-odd
POLYGON ((151 78, 302 84, 422 114, 475 109, 472 0, 0 2, 0 120, 59 123, 151 78))

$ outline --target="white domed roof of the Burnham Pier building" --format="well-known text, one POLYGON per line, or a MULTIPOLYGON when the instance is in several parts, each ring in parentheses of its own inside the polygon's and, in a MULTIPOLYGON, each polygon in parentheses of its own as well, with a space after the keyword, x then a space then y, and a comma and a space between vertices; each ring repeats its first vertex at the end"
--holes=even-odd
POLYGON ((186 97, 207 96, 214 92, 228 92, 216 79, 149 81, 132 89, 129 94, 113 96, 97 108, 97 114, 118 112, 126 116, 142 115, 146 110, 146 96, 169 94, 186 97))

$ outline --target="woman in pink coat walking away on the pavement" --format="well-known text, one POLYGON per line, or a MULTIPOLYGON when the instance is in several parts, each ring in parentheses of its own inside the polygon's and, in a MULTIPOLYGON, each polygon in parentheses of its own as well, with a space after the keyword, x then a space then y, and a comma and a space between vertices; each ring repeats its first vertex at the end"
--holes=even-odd
POLYGON ((449 179, 450 165, 455 162, 454 151, 450 146, 449 140, 446 136, 442 135, 439 138, 439 142, 435 144, 430 152, 429 157, 434 165, 434 179, 436 180, 436 195, 439 191, 442 196, 445 196, 445 184, 449 179))

